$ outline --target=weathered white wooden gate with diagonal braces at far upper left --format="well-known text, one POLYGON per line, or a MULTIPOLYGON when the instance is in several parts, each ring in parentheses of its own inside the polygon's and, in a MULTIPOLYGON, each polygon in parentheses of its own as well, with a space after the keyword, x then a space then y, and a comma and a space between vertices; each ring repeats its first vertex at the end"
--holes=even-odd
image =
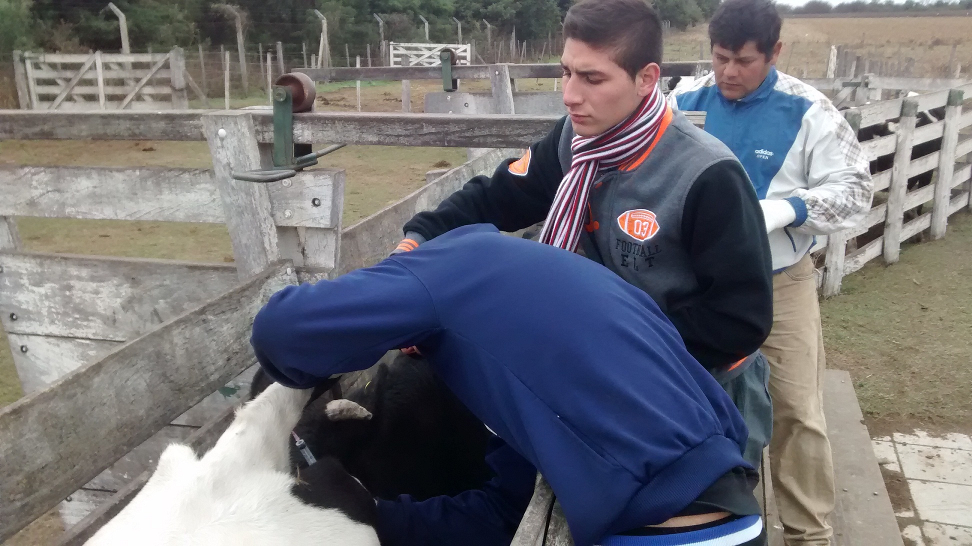
MULTIPOLYGON (((17 95, 32 110, 184 110, 186 58, 167 53, 15 51, 17 95)), ((190 78, 191 80, 191 78, 190 78)), ((194 82, 190 85, 195 86, 194 82)))

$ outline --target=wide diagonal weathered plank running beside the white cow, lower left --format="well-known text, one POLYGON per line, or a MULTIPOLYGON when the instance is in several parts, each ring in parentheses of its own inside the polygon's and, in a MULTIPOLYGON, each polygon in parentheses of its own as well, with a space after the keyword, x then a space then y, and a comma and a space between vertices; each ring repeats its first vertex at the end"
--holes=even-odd
POLYGON ((0 540, 249 367, 253 317, 295 283, 276 265, 0 410, 0 540))

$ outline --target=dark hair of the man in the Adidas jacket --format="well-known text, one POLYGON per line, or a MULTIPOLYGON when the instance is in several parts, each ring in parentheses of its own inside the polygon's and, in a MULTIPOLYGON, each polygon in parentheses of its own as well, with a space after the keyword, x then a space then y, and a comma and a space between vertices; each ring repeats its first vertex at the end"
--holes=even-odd
POLYGON ((709 22, 709 41, 712 48, 740 51, 751 40, 769 60, 780 41, 782 23, 780 12, 770 0, 726 0, 709 22))

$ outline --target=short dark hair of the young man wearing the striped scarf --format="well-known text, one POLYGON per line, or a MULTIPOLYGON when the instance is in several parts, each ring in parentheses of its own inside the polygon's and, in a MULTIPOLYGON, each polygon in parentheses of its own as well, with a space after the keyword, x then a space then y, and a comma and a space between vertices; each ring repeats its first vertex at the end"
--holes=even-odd
POLYGON ((613 60, 632 78, 662 62, 662 21, 644 0, 580 0, 564 18, 564 37, 613 50, 613 60))

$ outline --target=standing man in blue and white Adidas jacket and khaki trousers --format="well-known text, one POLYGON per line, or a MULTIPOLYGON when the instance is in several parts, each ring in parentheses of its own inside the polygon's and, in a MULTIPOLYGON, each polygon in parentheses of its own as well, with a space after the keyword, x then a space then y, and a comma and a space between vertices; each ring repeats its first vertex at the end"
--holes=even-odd
POLYGON ((781 73, 781 17, 770 0, 727 0, 712 17, 709 76, 670 102, 705 111, 706 131, 736 154, 756 189, 773 256, 770 360, 773 486, 788 545, 830 543, 833 462, 823 420, 817 236, 857 225, 871 206, 868 161, 830 100, 781 73))

